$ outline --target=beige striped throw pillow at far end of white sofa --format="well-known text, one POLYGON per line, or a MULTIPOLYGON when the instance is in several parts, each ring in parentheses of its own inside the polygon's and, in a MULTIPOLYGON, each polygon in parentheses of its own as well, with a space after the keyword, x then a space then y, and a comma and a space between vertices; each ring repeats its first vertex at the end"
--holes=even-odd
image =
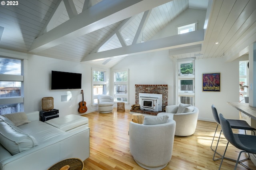
POLYGON ((24 112, 10 113, 2 116, 12 121, 16 127, 24 125, 25 123, 30 123, 30 121, 28 121, 26 113, 24 112))

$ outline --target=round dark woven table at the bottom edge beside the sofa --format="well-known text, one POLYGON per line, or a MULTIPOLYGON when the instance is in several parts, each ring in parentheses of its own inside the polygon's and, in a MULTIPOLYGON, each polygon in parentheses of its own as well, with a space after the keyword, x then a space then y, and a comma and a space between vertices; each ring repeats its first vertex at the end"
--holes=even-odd
POLYGON ((68 158, 62 160, 48 170, 82 170, 84 168, 84 162, 78 158, 68 158))

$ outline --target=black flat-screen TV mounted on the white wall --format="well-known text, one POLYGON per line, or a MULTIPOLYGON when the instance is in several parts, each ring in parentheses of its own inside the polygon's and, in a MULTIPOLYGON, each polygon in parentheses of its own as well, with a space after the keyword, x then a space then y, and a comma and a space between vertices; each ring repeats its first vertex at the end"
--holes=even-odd
POLYGON ((52 90, 81 89, 82 74, 52 71, 52 90))

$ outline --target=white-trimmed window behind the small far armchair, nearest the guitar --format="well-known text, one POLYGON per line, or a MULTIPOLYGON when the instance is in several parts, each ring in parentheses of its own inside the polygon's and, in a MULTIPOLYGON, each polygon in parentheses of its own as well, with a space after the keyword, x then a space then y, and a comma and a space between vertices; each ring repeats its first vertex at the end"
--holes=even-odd
POLYGON ((98 104, 98 95, 106 95, 106 70, 92 68, 92 105, 98 104))

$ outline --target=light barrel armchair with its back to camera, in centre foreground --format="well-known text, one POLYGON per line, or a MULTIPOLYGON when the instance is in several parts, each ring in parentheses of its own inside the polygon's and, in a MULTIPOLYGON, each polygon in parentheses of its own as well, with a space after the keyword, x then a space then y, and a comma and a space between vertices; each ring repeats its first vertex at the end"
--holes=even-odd
POLYGON ((176 123, 168 117, 166 121, 158 125, 130 122, 130 152, 139 166, 160 170, 171 160, 176 123))

